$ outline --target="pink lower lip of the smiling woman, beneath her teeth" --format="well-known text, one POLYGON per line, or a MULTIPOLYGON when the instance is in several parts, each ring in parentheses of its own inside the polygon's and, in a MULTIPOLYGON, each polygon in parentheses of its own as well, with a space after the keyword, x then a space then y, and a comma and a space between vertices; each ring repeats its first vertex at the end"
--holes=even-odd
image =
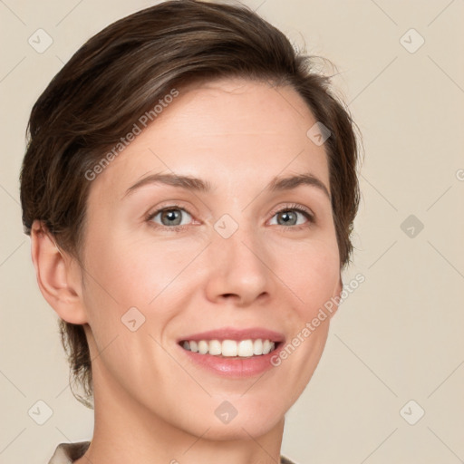
POLYGON ((277 348, 271 353, 250 356, 248 358, 223 358, 214 356, 213 354, 192 353, 182 348, 180 345, 178 346, 182 352, 186 353, 192 362, 197 363, 209 372, 214 372, 229 378, 241 379, 259 375, 275 367, 275 365, 271 363, 271 359, 274 356, 278 357, 279 352, 284 347, 284 343, 280 342, 277 348))

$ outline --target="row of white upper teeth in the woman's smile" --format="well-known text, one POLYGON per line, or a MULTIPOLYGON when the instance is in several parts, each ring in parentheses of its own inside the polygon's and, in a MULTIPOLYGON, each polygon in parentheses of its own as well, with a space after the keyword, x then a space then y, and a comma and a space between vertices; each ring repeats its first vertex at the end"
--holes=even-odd
POLYGON ((275 349, 275 343, 270 340, 263 340, 258 338, 256 340, 194 340, 186 341, 182 344, 183 348, 191 351, 192 353, 199 354, 212 354, 215 356, 234 357, 239 356, 248 358, 250 356, 267 354, 275 349))

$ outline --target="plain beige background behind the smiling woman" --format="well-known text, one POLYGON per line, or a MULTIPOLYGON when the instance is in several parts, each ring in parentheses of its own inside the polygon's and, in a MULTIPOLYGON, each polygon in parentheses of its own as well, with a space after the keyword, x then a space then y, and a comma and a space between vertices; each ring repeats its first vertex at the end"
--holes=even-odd
MULTIPOLYGON (((357 249, 344 279, 366 280, 341 306, 322 362, 287 414, 282 452, 301 464, 462 462, 464 2, 246 3, 337 65, 333 82, 365 149, 357 249), (406 34, 411 28, 425 40, 414 53, 420 36, 406 34), (424 226, 415 237, 401 229, 410 215, 424 226), (425 411, 415 425, 400 414, 410 400, 408 420, 425 411)), ((67 388, 56 316, 37 288, 22 230, 26 121, 84 40, 152 4, 0 2, 1 462, 47 462, 58 443, 92 437, 92 411, 67 388), (39 28, 53 38, 44 53, 28 43, 39 28), (43 425, 28 415, 39 400, 53 410, 43 425)))

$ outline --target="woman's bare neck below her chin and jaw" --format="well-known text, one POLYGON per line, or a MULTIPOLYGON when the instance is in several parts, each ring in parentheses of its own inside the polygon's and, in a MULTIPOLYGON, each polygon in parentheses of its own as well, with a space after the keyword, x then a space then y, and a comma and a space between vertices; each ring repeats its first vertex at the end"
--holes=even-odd
POLYGON ((243 421, 234 424, 233 420, 225 425, 211 420, 198 424, 189 411, 183 414, 183 421, 174 414, 160 417, 131 398, 121 386, 104 382, 97 372, 93 378, 92 442, 75 464, 280 463, 285 417, 271 429, 261 431, 247 430, 243 421))

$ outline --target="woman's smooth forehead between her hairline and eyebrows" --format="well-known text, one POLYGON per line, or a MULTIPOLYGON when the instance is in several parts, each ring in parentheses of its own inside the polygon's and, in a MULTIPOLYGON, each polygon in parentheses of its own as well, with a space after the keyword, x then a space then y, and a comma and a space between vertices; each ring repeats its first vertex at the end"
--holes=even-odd
POLYGON ((311 171, 329 188, 326 153, 306 133, 316 122, 290 87, 221 79, 178 89, 121 151, 92 189, 123 194, 152 172, 246 189, 278 174, 311 171))

